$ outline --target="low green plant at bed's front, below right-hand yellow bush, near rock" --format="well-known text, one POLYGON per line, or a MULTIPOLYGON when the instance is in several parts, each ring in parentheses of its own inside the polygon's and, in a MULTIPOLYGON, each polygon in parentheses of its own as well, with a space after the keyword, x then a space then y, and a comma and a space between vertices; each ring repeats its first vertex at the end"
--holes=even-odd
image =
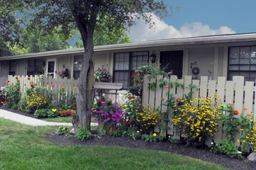
POLYGON ((227 139, 212 143, 211 151, 218 154, 225 154, 230 156, 231 158, 244 158, 243 155, 241 155, 241 152, 238 151, 238 148, 236 145, 234 145, 233 142, 228 141, 227 139))

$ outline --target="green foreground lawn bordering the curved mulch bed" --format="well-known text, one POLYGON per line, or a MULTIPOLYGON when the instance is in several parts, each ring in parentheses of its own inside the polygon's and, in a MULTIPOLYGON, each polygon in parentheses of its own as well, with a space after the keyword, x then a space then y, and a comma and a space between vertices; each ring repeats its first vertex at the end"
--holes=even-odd
POLYGON ((0 169, 226 169, 163 151, 44 141, 57 127, 31 127, 0 118, 0 129, 0 169))

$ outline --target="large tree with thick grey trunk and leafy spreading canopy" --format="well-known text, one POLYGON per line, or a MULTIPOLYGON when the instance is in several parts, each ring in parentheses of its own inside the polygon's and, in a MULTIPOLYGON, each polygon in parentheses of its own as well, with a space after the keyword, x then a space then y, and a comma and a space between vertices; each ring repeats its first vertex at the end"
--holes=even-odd
POLYGON ((152 26, 152 12, 160 18, 170 15, 171 8, 163 0, 0 0, 6 8, 18 8, 24 13, 27 29, 43 28, 68 39, 71 31, 78 28, 85 54, 78 82, 78 114, 73 118, 74 128, 85 126, 90 129, 92 89, 94 71, 94 33, 108 28, 129 29, 135 19, 144 19, 152 26))

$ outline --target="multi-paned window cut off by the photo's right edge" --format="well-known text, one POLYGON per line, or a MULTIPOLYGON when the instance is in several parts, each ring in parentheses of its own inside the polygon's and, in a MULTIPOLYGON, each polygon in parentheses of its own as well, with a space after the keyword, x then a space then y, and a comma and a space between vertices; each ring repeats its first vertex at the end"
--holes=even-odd
POLYGON ((244 76, 246 81, 254 81, 256 77, 256 46, 230 47, 229 80, 233 76, 244 76))

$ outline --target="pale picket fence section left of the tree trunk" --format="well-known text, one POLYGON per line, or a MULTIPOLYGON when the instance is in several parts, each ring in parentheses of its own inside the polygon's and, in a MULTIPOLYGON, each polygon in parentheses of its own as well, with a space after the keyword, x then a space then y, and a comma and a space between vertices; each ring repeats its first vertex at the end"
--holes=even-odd
POLYGON ((20 92, 26 93, 27 88, 31 88, 30 85, 33 84, 40 87, 46 87, 46 90, 43 90, 43 93, 54 92, 54 101, 57 104, 59 101, 59 94, 62 87, 64 87, 67 96, 73 93, 78 93, 78 80, 74 80, 74 78, 61 79, 60 77, 52 78, 51 76, 8 76, 5 82, 5 85, 15 84, 19 80, 20 84, 20 92), (7 83, 9 81, 9 83, 7 83))

